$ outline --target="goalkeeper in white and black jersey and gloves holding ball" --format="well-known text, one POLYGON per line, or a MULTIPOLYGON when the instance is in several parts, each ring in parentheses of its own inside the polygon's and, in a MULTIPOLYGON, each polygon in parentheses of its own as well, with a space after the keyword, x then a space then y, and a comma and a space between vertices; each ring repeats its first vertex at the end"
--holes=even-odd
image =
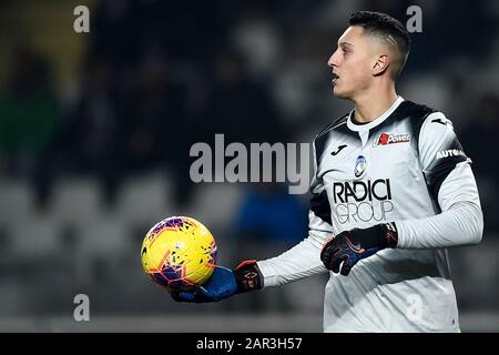
POLYGON ((314 140, 308 236, 279 256, 217 267, 176 301, 214 302, 329 271, 325 332, 459 332, 446 248, 479 243, 482 212, 451 121, 396 93, 409 48, 397 20, 350 17, 328 65, 334 95, 354 108, 314 140))

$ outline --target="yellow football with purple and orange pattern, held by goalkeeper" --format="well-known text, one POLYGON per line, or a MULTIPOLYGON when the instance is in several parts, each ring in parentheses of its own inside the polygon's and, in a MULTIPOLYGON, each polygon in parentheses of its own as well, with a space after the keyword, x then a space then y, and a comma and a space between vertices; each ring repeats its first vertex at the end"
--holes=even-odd
POLYGON ((156 223, 141 250, 147 276, 169 292, 191 291, 205 283, 216 265, 216 243, 201 222, 172 216, 156 223))

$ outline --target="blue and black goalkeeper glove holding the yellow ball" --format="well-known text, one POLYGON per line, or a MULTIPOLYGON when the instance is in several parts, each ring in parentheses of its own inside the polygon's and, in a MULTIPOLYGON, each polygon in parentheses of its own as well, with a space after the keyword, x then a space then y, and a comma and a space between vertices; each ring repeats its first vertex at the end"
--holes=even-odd
POLYGON ((212 277, 192 292, 172 293, 177 302, 217 302, 237 293, 249 292, 263 287, 263 276, 256 261, 245 261, 234 270, 216 266, 212 277))

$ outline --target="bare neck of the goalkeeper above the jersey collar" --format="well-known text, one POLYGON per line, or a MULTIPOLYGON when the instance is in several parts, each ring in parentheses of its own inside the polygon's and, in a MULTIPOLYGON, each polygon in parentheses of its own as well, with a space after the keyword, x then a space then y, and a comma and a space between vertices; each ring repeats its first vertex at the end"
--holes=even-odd
POLYGON ((354 100, 355 120, 360 123, 370 122, 379 118, 397 100, 395 88, 378 91, 377 94, 365 94, 354 100))

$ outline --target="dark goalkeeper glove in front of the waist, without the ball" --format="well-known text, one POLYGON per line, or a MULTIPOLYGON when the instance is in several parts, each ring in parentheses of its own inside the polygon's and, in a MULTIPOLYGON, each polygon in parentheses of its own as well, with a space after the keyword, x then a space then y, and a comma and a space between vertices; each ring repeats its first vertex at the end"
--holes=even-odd
POLYGON ((327 270, 348 275, 360 260, 386 247, 396 247, 398 242, 395 223, 377 224, 366 230, 345 231, 326 242, 320 260, 327 270), (342 271, 339 266, 343 263, 342 271))

